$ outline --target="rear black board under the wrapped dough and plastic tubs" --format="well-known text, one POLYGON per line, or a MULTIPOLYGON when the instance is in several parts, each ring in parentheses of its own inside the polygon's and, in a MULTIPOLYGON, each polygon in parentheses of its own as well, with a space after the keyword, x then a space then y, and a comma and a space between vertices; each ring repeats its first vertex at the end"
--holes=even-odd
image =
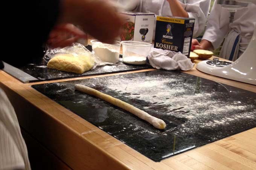
MULTIPOLYGON (((88 50, 92 50, 91 46, 86 47, 88 50)), ((23 83, 35 82, 35 81, 44 81, 44 80, 54 80, 61 78, 74 78, 81 77, 85 75, 100 75, 100 74, 110 74, 117 72, 126 72, 126 71, 136 71, 141 69, 152 68, 150 65, 131 65, 122 62, 122 55, 120 55, 119 63, 114 65, 104 65, 97 66, 90 71, 84 72, 83 74, 75 74, 72 72, 58 71, 55 69, 47 68, 47 62, 43 60, 43 56, 34 57, 31 63, 15 68, 14 66, 5 64, 3 69, 8 74, 22 81, 23 83)))

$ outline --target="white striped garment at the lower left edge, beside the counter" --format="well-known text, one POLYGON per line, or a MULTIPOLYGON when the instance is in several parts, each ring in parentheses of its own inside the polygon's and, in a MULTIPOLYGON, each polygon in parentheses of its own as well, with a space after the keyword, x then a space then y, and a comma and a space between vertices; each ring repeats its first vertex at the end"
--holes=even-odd
POLYGON ((11 102, 0 89, 0 170, 30 170, 27 147, 11 102))

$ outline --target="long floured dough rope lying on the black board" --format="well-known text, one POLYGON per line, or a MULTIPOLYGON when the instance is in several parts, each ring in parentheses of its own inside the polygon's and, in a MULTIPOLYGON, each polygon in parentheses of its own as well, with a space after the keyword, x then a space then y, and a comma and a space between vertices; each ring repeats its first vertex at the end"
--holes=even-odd
POLYGON ((158 119, 154 116, 151 116, 150 114, 146 113, 145 111, 140 110, 139 108, 134 107, 133 105, 123 102, 119 99, 113 98, 110 95, 106 95, 102 92, 99 92, 98 90, 92 89, 87 86, 83 86, 81 84, 76 84, 75 89, 80 92, 96 96, 104 101, 107 101, 117 107, 122 108, 123 110, 129 111, 130 113, 133 113, 134 115, 138 116, 140 119, 147 121, 148 123, 153 125, 155 128, 158 128, 158 129, 166 128, 166 124, 163 120, 158 119))

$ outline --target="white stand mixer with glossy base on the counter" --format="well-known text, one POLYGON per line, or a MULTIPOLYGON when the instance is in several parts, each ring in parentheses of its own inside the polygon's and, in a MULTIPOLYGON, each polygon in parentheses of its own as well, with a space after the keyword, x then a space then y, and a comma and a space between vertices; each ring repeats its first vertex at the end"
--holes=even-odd
MULTIPOLYGON (((256 0, 219 0, 219 2, 252 2, 256 4, 256 0)), ((230 20, 232 20, 232 12, 241 8, 236 3, 233 5, 223 4, 224 8, 230 11, 230 20)), ((242 3, 243 5, 245 3, 242 3)), ((254 29, 251 41, 244 53, 233 63, 229 65, 219 65, 218 59, 213 61, 202 61, 198 63, 197 69, 201 72, 227 78, 230 80, 241 81, 244 83, 256 85, 256 28, 254 29), (209 62, 210 61, 210 62, 209 62)))

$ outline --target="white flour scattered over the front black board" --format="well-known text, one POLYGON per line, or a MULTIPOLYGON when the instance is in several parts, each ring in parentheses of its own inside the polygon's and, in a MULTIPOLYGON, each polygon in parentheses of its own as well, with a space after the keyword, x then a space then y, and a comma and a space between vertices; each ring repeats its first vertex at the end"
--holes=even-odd
POLYGON ((143 107, 145 110, 152 109, 160 114, 186 119, 186 122, 169 129, 175 130, 176 134, 189 134, 193 129, 228 125, 242 119, 256 119, 255 105, 240 100, 230 102, 227 92, 219 94, 206 90, 206 93, 203 89, 198 90, 195 84, 184 83, 172 74, 168 78, 162 75, 143 76, 143 79, 122 75, 118 78, 118 81, 108 79, 104 82, 105 86, 116 91, 120 97, 151 103, 143 107))

